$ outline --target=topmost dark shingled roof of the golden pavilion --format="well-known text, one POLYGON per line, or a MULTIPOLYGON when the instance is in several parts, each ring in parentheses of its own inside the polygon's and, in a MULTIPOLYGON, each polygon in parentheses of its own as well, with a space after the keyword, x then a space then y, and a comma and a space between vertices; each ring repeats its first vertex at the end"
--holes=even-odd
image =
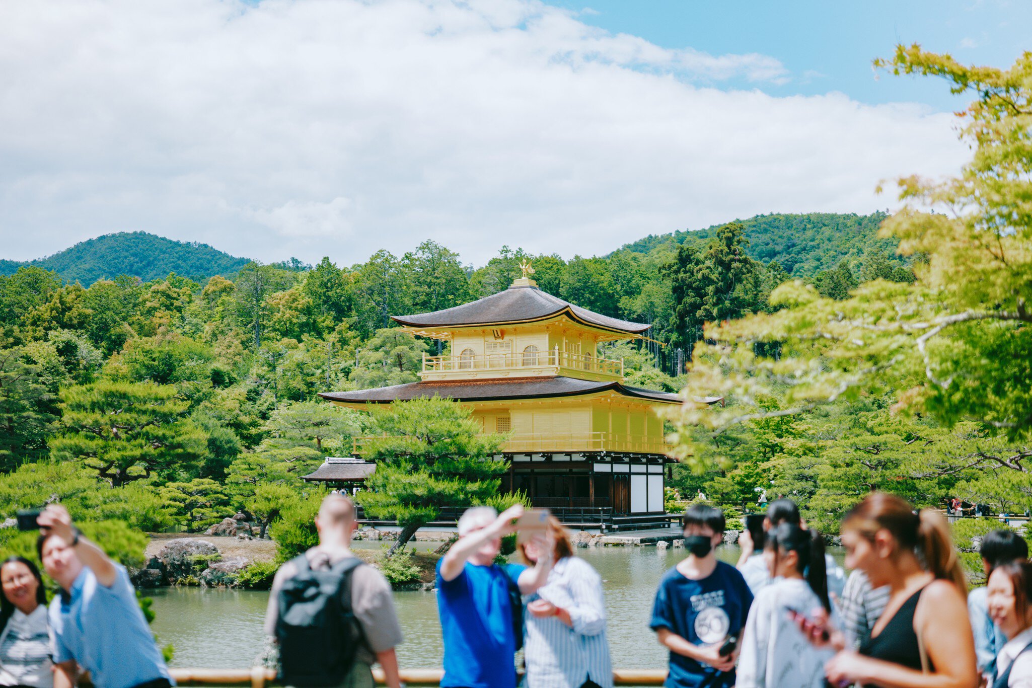
POLYGON ((607 330, 640 334, 649 328, 642 323, 617 320, 563 301, 537 287, 513 286, 453 308, 420 313, 414 316, 391 316, 394 322, 409 327, 460 327, 467 325, 504 325, 544 320, 566 312, 575 321, 607 330))

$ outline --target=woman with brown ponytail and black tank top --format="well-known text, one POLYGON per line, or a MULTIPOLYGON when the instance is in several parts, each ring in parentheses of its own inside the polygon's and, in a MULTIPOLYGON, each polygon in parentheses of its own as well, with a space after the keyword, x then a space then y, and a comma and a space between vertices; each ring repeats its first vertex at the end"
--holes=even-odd
MULTIPOLYGON (((842 521, 846 566, 863 570, 875 588, 889 586, 885 611, 856 652, 839 652, 825 667, 832 685, 885 688, 975 688, 978 670, 967 616, 967 584, 945 520, 914 513, 906 501, 875 492, 842 521)), ((811 641, 823 624, 804 624, 811 641)))

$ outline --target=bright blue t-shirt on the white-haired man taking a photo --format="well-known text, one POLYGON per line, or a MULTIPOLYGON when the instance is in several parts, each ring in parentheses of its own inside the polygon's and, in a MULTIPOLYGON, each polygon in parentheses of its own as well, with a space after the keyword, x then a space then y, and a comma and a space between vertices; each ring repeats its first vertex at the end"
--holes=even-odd
POLYGON ((438 561, 438 612, 445 644, 442 688, 516 688, 510 582, 525 566, 465 563, 452 581, 441 578, 438 561))

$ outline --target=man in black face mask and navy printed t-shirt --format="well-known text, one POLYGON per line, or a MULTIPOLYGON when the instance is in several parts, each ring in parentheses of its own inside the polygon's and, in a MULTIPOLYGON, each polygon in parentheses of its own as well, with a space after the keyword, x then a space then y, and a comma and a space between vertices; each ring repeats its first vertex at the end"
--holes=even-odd
POLYGON ((649 626, 670 650, 667 688, 731 688, 735 685, 737 647, 720 648, 739 637, 752 604, 742 575, 716 560, 713 548, 723 542, 723 512, 696 504, 684 513, 688 556, 659 581, 649 626))

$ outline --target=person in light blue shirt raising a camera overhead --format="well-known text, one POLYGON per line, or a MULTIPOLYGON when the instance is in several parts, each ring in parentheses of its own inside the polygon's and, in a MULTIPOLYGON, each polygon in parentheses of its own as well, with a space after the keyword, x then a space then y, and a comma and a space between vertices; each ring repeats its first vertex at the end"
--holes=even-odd
POLYGON ((76 664, 97 688, 168 688, 168 667, 154 643, 129 574, 51 504, 37 518, 36 551, 61 586, 51 602, 56 686, 73 686, 76 664))

